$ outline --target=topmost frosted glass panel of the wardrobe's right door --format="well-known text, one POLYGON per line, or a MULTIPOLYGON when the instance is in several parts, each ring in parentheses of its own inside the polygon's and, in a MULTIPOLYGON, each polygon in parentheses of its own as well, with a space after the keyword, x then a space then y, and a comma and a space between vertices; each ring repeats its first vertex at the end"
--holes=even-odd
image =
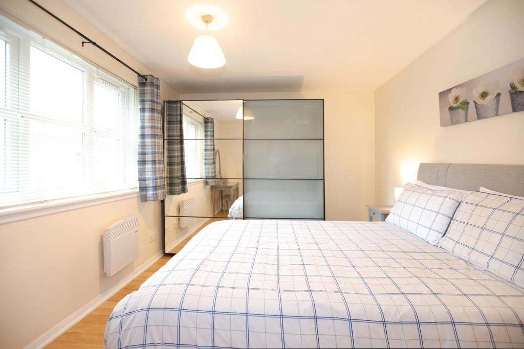
POLYGON ((323 138, 323 100, 246 100, 244 139, 323 138))

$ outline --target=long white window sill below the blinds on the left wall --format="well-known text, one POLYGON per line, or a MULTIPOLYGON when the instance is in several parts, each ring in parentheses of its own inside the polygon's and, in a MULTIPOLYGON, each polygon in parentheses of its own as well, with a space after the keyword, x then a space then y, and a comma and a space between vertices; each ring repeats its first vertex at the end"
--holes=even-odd
POLYGON ((138 197, 138 189, 37 202, 0 209, 0 224, 138 197))

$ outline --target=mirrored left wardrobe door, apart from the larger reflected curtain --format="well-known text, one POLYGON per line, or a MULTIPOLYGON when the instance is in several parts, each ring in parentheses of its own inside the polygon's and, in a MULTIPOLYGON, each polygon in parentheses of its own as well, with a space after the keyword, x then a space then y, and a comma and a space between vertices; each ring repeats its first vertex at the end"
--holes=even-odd
POLYGON ((243 218, 242 100, 187 100, 181 110, 188 192, 164 201, 166 253, 214 221, 243 218))

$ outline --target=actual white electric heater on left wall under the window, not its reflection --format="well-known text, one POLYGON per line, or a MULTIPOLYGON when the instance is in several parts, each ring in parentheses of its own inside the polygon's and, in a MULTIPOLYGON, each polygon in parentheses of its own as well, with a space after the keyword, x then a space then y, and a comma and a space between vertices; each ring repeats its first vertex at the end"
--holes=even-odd
POLYGON ((113 276, 138 258, 138 217, 118 221, 104 230, 104 272, 113 276))

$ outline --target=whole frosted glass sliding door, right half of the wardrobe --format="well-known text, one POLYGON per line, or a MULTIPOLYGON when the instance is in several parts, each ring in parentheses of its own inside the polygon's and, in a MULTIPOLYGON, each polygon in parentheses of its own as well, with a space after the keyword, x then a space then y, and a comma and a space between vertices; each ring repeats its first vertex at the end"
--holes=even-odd
POLYGON ((244 218, 324 219, 324 101, 244 102, 244 218))

